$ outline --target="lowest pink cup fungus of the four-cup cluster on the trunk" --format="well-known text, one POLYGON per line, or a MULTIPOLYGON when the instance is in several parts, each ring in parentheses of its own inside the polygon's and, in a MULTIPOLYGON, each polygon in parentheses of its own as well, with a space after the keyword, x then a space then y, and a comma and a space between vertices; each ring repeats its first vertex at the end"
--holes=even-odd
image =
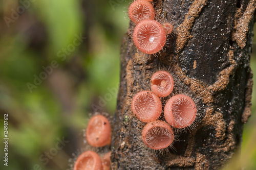
POLYGON ((142 130, 142 140, 147 147, 153 150, 161 150, 173 143, 174 132, 169 124, 156 120, 146 124, 142 130))

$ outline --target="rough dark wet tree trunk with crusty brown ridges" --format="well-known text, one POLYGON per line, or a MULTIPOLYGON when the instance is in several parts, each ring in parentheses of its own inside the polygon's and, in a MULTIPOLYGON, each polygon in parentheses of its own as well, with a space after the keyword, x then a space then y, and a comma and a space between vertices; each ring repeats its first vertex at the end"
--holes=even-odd
MULTIPOLYGON (((156 55, 137 50, 131 23, 121 47, 113 169, 218 169, 240 150, 243 124, 251 114, 255 6, 255 0, 154 1, 155 19, 174 25, 156 55), (198 108, 196 128, 176 133, 175 149, 165 153, 144 147, 145 124, 131 110, 133 96, 150 90, 150 78, 159 69, 172 72, 174 93, 190 95, 198 108)), ((163 106, 169 98, 161 99, 163 106)))

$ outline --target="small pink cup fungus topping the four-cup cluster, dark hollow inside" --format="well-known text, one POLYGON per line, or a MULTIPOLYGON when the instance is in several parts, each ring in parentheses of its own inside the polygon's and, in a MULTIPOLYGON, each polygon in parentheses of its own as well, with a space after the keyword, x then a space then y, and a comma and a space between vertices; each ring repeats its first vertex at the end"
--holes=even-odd
POLYGON ((174 79, 167 71, 157 71, 151 78, 151 90, 159 97, 166 97, 174 88, 174 79))

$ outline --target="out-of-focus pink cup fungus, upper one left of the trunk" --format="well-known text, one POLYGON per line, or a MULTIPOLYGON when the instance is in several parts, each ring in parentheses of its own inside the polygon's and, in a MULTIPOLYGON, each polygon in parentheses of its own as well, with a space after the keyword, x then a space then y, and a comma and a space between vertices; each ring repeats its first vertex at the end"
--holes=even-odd
POLYGON ((87 126, 86 138, 93 147, 104 147, 111 143, 111 126, 103 115, 93 116, 87 126))

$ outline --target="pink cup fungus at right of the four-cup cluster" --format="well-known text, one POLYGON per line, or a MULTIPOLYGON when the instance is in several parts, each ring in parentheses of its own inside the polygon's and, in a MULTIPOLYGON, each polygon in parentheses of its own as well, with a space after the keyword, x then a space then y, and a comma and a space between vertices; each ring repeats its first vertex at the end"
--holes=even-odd
POLYGON ((197 108, 189 96, 178 94, 168 100, 164 107, 166 121, 175 128, 190 126, 197 115, 197 108))

